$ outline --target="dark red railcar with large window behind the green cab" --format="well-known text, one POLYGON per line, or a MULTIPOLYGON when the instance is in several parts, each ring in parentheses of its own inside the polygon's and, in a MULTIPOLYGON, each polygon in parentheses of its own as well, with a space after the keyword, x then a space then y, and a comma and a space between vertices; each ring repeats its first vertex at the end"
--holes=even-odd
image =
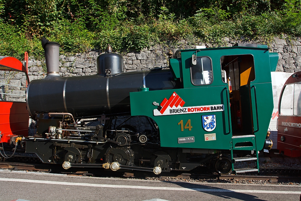
POLYGON ((301 72, 292 74, 285 82, 278 106, 279 153, 301 156, 301 72))

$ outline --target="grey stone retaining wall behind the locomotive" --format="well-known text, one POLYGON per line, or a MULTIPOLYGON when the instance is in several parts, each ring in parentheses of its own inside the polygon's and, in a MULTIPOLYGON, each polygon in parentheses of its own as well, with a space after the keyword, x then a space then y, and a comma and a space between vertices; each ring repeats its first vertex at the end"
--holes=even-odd
MULTIPOLYGON (((227 46, 233 46, 237 42, 229 38, 225 38, 227 46)), ((247 43, 260 43, 259 41, 249 41, 247 43)), ((200 44, 212 47, 212 44, 200 44)), ((301 71, 301 39, 275 39, 268 44, 271 52, 277 52, 279 55, 278 65, 276 71, 297 72, 301 71)), ((137 71, 151 69, 155 67, 168 67, 168 59, 166 53, 171 49, 174 53, 178 49, 195 48, 185 44, 185 41, 180 41, 178 46, 153 46, 143 49, 139 52, 129 52, 123 55, 124 71, 137 71)), ((97 73, 96 58, 103 53, 101 50, 91 50, 88 53, 80 53, 74 56, 60 56, 60 75, 67 76, 82 76, 93 75, 97 73)), ((46 76, 45 61, 36 61, 29 59, 29 79, 42 79, 46 76)), ((26 77, 22 73, 0 71, 0 83, 8 83, 17 86, 26 85, 26 77)), ((18 95, 25 95, 23 87, 5 86, 0 84, 0 93, 13 93, 18 95)), ((4 96, 0 100, 9 101, 25 101, 22 96, 4 96)))

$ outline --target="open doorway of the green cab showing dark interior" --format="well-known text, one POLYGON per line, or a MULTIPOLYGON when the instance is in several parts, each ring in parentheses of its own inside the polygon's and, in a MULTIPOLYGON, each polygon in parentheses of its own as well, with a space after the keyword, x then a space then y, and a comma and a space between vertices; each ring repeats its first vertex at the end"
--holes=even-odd
POLYGON ((252 55, 222 56, 221 66, 223 81, 229 85, 232 135, 254 135, 250 86, 255 80, 254 58, 252 55))

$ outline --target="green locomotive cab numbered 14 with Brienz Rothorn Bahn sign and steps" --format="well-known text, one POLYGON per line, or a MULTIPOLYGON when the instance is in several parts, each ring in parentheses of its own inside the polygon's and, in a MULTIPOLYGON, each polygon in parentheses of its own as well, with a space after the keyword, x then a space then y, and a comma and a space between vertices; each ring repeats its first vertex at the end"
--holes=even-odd
POLYGON ((181 50, 170 68, 183 89, 130 93, 131 113, 157 122, 161 146, 230 150, 220 166, 252 159, 256 168, 234 170, 232 163, 232 170, 258 171, 256 150, 263 148, 273 109, 270 72, 277 63, 271 56, 263 45, 181 50), (154 101, 160 105, 151 111, 154 101), (233 157, 238 150, 255 157, 233 157))

